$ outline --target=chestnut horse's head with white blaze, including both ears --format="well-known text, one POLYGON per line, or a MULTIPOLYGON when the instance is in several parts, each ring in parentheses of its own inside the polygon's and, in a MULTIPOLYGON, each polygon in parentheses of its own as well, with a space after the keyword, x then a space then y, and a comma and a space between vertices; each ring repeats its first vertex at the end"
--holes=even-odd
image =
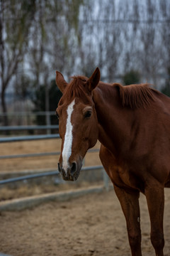
POLYGON ((76 181, 86 151, 98 139, 98 121, 93 102, 93 90, 100 80, 96 68, 90 78, 77 76, 67 83, 56 71, 56 83, 62 92, 56 113, 62 139, 58 169, 66 181, 76 181))

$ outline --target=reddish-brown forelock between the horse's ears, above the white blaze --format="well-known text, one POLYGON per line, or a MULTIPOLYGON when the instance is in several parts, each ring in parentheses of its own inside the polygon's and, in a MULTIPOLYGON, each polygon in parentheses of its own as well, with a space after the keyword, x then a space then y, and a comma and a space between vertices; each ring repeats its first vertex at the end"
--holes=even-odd
POLYGON ((72 81, 66 87, 64 95, 67 98, 68 103, 72 102, 75 97, 79 97, 82 100, 87 100, 85 85, 88 78, 84 76, 74 76, 72 81))

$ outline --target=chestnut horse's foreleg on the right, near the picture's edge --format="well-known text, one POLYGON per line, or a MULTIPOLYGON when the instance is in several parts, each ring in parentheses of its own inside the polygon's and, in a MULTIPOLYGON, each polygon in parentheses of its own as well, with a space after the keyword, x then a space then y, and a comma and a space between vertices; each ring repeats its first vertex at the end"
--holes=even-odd
POLYGON ((151 221, 151 242, 156 256, 164 256, 164 187, 159 183, 145 188, 151 221))

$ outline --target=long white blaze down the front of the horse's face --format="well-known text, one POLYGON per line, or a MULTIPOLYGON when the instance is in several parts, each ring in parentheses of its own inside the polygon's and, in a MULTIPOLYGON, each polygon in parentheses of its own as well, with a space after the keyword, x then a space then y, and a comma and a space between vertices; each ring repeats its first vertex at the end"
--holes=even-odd
POLYGON ((72 101, 72 103, 69 104, 67 108, 67 123, 66 123, 66 132, 64 136, 64 146, 62 150, 62 168, 67 171, 67 168, 69 168, 69 156, 72 154, 72 112, 73 107, 75 104, 75 100, 72 101))

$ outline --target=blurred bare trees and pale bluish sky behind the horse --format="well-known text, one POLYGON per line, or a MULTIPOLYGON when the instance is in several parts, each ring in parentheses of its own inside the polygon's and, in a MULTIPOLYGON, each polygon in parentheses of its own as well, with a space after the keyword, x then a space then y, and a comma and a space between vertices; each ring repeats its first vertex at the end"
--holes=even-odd
POLYGON ((169 93, 169 24, 169 0, 0 0, 1 111, 8 92, 24 100, 42 85, 50 110, 55 70, 69 80, 98 66, 101 80, 125 84, 133 70, 169 93))

